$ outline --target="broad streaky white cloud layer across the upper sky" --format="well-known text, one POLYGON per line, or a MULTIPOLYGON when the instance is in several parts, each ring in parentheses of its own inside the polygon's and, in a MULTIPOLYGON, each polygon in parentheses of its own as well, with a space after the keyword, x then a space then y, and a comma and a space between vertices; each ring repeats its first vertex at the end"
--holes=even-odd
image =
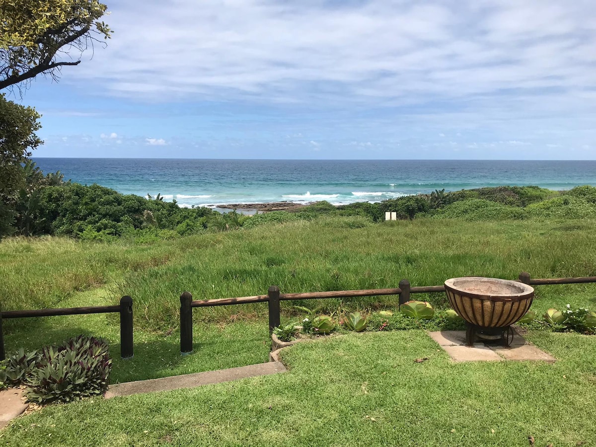
POLYGON ((148 101, 412 104, 596 84, 587 0, 123 2, 107 21, 114 38, 73 76, 148 101))

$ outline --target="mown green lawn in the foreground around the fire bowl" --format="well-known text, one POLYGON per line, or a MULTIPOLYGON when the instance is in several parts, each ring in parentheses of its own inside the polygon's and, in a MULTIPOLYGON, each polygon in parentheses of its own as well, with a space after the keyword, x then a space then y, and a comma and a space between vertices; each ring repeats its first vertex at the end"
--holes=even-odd
POLYGON ((333 337, 286 350, 286 374, 52 405, 0 442, 525 447, 531 435, 537 446, 596 445, 596 337, 530 338, 557 363, 454 364, 423 331, 333 337))

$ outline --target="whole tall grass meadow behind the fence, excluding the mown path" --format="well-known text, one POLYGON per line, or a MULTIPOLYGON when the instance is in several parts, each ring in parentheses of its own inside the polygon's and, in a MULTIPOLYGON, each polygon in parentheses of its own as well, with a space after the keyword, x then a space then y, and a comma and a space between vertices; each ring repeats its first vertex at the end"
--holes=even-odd
MULTIPOLYGON (((265 294, 439 285, 447 278, 479 275, 517 278, 596 275, 594 221, 554 219, 467 222, 415 219, 368 225, 356 216, 258 226, 175 241, 138 245, 121 240, 91 243, 66 238, 8 239, 0 243, 3 310, 59 306, 77 291, 109 286, 110 301, 131 295, 135 325, 178 327, 179 295, 194 299, 265 294)), ((594 285, 538 287, 535 308, 596 307, 594 285), (592 305, 594 302, 594 305, 592 305)), ((414 296, 436 306, 443 294, 414 296)), ((396 296, 284 302, 325 312, 395 306, 396 296)), ((85 305, 79 303, 78 305, 85 305)), ((266 313, 265 304, 195 309, 195 319, 222 321, 266 313)), ((113 319, 116 322, 116 319, 113 319)))

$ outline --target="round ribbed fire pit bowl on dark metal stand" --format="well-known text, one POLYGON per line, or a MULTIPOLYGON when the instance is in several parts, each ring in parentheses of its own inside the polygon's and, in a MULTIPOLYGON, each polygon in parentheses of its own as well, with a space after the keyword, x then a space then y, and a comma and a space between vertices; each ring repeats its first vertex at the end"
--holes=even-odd
POLYGON ((445 281, 449 303, 468 325, 467 342, 476 335, 488 340, 513 339, 510 325, 532 305, 534 289, 517 281, 498 278, 464 277, 445 281))

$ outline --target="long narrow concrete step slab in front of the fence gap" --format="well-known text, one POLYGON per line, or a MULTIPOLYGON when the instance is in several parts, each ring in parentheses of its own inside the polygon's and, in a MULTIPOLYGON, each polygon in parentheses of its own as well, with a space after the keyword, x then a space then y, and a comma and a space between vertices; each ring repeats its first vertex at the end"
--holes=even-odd
POLYGON ((287 371, 280 362, 260 363, 246 367, 228 368, 227 370, 206 371, 204 373, 176 375, 174 377, 154 378, 111 385, 105 393, 105 398, 129 396, 139 393, 157 391, 171 391, 182 388, 194 388, 202 385, 240 380, 247 377, 285 373, 287 371))

